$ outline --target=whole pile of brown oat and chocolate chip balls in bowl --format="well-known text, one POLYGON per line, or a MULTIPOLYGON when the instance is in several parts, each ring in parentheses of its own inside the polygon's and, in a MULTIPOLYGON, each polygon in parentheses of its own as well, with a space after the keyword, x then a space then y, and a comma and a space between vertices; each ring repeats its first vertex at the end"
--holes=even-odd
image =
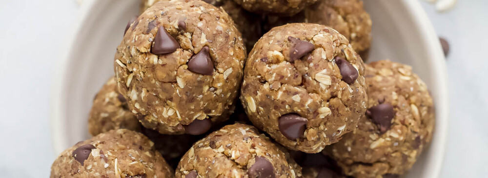
POLYGON ((432 138, 433 102, 411 67, 363 63, 361 0, 142 11, 93 101, 94 137, 62 152, 51 178, 398 178, 432 138))

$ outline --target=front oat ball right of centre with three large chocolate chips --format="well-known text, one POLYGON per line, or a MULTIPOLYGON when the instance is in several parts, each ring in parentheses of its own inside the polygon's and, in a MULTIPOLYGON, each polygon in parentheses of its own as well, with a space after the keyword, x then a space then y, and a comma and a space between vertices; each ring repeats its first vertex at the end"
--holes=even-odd
POLYGON ((330 27, 275 27, 249 55, 241 90, 247 116, 289 149, 320 152, 366 111, 363 61, 330 27))

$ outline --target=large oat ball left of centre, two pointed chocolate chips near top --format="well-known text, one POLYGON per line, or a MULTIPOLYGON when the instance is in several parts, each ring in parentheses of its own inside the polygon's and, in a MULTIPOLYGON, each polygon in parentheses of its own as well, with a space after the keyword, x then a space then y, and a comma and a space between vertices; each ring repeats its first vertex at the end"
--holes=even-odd
POLYGON ((129 25, 114 66, 119 91, 144 127, 200 135, 228 119, 245 58, 224 10, 161 0, 129 25))

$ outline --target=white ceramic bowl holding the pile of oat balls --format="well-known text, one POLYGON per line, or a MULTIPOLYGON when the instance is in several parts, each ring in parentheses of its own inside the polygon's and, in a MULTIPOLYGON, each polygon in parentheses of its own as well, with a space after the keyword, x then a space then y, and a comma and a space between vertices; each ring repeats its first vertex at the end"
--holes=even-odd
MULTIPOLYGON (((406 178, 437 178, 447 136, 447 73, 442 49, 417 0, 365 0, 373 20, 371 60, 409 64, 427 83, 436 104, 430 147, 406 178)), ((85 0, 81 22, 59 64, 52 103, 55 153, 89 137, 87 117, 96 92, 113 75, 113 57, 139 0, 85 0)))

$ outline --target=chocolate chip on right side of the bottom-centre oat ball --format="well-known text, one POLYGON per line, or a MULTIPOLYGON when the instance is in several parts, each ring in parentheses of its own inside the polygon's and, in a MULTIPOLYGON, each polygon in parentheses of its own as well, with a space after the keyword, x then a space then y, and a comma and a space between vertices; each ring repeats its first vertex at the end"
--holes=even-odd
POLYGON ((256 162, 247 170, 249 178, 274 178, 273 164, 266 158, 255 157, 256 162))

